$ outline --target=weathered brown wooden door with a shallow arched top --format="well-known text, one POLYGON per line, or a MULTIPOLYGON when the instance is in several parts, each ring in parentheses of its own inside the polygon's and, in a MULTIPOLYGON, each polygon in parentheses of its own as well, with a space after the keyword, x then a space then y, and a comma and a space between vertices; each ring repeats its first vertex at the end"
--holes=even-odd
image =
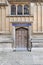
POLYGON ((15 47, 16 50, 27 50, 28 49, 28 29, 20 27, 16 29, 15 36, 15 47))

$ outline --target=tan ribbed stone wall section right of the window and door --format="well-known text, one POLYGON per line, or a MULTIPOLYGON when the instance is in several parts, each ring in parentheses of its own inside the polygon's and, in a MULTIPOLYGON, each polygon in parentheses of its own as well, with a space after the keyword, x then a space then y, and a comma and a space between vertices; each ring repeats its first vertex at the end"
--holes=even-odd
POLYGON ((31 3, 31 14, 34 16, 33 32, 43 32, 43 3, 31 3))

